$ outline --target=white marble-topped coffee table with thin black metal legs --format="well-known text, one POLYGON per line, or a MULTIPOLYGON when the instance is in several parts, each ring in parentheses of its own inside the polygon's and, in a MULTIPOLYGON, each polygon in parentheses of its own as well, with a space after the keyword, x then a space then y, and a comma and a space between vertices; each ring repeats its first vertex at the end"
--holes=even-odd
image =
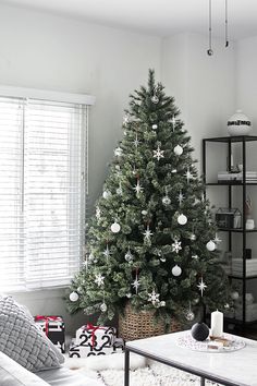
POLYGON ((124 386, 130 385, 130 352, 195 374, 200 377, 200 385, 206 378, 228 386, 257 386, 256 340, 240 338, 246 346, 237 351, 201 352, 178 345, 185 334, 188 331, 126 342, 124 386))

